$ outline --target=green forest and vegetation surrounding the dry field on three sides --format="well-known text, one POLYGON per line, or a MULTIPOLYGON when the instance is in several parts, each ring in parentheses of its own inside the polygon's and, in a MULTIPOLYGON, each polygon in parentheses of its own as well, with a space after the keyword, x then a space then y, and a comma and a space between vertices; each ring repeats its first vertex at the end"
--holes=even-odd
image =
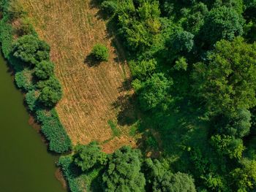
POLYGON ((97 142, 71 146, 53 109, 61 85, 50 47, 26 20, 16 28, 20 37, 10 38, 23 12, 0 2, 2 51, 17 85, 51 149, 72 148, 59 159, 71 191, 256 191, 255 0, 97 1, 126 52, 135 131, 145 138, 111 154, 97 142))

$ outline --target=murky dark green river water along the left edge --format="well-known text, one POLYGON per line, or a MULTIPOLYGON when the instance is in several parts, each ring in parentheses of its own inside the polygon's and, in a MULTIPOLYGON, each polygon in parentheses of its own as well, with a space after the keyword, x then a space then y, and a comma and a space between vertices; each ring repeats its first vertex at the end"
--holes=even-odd
POLYGON ((0 55, 0 192, 65 192, 0 55))

